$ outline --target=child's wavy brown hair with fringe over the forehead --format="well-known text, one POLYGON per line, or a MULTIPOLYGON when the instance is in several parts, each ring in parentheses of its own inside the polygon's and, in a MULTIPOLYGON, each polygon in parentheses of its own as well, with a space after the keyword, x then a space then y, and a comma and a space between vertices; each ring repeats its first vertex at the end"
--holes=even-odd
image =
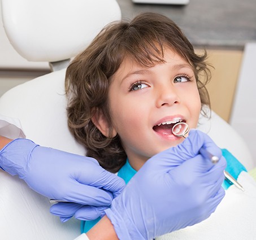
POLYGON ((101 110, 109 121, 111 133, 108 106, 110 78, 127 56, 145 67, 164 62, 166 47, 192 66, 202 106, 209 105, 209 94, 205 88, 210 80, 206 51, 197 55, 181 29, 160 14, 144 13, 131 21, 122 20, 107 25, 67 68, 68 126, 75 138, 85 146, 86 155, 97 159, 108 171, 117 172, 127 159, 119 136, 103 136, 92 121, 96 111, 101 110), (203 80, 199 80, 199 73, 204 73, 203 80))

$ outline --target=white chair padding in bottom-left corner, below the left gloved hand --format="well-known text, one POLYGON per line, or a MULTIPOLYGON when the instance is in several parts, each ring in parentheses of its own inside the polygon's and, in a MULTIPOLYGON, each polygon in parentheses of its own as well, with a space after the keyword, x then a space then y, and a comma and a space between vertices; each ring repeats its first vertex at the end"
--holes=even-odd
POLYGON ((49 212, 49 199, 0 170, 0 225, 2 240, 72 240, 80 235, 80 221, 60 222, 49 212))

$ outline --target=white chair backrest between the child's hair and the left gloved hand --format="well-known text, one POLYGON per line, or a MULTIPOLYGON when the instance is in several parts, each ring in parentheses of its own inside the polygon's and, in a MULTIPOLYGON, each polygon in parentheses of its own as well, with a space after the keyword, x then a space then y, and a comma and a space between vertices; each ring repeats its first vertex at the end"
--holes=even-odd
POLYGON ((25 82, 0 98, 0 112, 20 120, 25 136, 39 145, 85 155, 67 125, 66 69, 25 82))

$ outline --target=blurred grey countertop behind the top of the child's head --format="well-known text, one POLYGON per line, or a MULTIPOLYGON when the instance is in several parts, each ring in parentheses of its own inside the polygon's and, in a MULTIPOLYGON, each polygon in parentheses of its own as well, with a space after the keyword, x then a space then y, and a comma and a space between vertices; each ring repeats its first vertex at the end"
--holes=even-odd
POLYGON ((184 6, 117 2, 123 18, 145 11, 168 16, 194 46, 243 49, 256 42, 256 0, 190 0, 184 6))

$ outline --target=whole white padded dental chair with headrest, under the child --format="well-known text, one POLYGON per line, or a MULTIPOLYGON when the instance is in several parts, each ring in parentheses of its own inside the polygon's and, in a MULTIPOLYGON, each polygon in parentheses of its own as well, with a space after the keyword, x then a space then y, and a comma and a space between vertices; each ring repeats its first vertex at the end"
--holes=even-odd
MULTIPOLYGON (((121 17, 115 0, 2 0, 3 25, 12 46, 29 61, 49 62, 53 72, 7 91, 1 114, 18 119, 27 138, 41 146, 85 155, 67 126, 64 77, 70 59, 85 49, 99 30, 121 17)), ((226 148, 246 168, 254 167, 248 147, 235 130, 212 112, 199 129, 226 148), (222 135, 219 133, 222 132, 222 135)), ((49 199, 18 177, 0 172, 1 239, 72 240, 79 221, 61 223, 49 213, 49 199)))

